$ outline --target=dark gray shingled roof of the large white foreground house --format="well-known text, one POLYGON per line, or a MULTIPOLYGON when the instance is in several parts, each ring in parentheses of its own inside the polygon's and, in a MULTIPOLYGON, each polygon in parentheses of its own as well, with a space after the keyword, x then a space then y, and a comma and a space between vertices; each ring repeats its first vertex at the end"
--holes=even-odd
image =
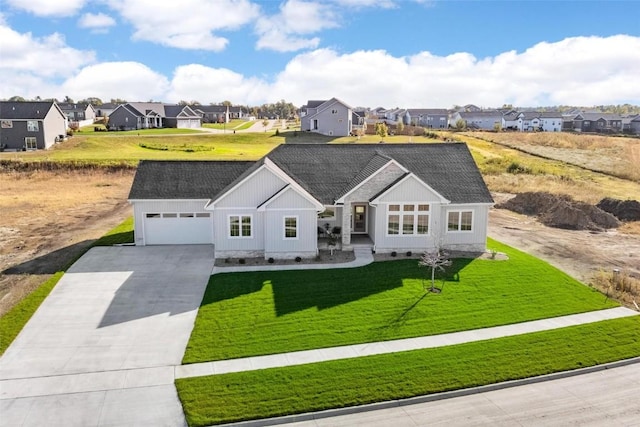
MULTIPOLYGON (((394 159, 452 203, 493 203, 465 144, 284 144, 267 156, 323 204, 394 159)), ((129 199, 215 199, 264 162, 142 161, 129 199)))

